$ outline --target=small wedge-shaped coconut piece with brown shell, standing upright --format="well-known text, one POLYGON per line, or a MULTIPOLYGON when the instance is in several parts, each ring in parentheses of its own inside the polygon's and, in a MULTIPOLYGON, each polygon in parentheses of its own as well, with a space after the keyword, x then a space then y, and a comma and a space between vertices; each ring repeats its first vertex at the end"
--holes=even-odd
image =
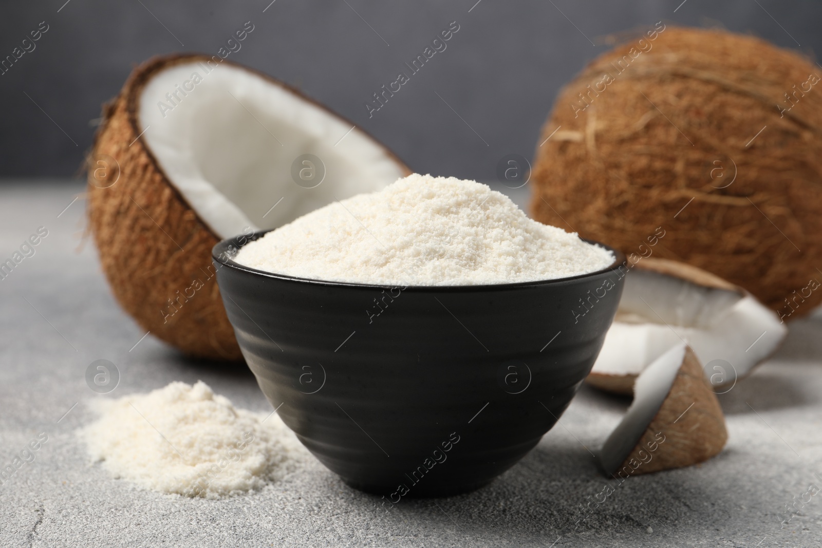
POLYGON ((636 380, 635 397, 600 451, 608 477, 701 463, 722 451, 727 429, 699 359, 679 343, 636 380))

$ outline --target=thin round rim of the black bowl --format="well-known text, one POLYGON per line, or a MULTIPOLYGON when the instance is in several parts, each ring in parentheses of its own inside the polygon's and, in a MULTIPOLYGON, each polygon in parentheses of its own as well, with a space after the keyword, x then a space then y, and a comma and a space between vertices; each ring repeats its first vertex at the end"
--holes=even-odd
MULTIPOLYGON (((311 279, 311 278, 299 278, 298 276, 289 276, 288 274, 275 274, 274 272, 267 272, 266 270, 260 270, 252 268, 251 266, 241 265, 238 262, 235 262, 231 259, 231 257, 236 254, 229 254, 230 247, 236 247, 239 250, 240 247, 245 246, 249 242, 253 242, 256 239, 264 236, 266 233, 270 233, 271 231, 276 230, 276 228, 269 228, 263 230, 257 230, 251 234, 240 234, 235 237, 225 238, 224 240, 220 240, 215 244, 214 247, 211 248, 211 259, 215 260, 219 265, 228 266, 234 270, 240 270, 242 272, 247 272, 248 274, 256 274, 258 276, 262 276, 264 278, 269 279, 279 279, 286 282, 297 282, 297 283, 307 283, 308 285, 316 285, 316 286, 339 286, 345 288, 360 288, 360 289, 386 289, 386 288, 402 288, 402 291, 425 291, 425 292, 487 292, 487 291, 494 291, 494 290, 506 290, 506 289, 517 289, 517 288, 528 288, 532 286, 543 286, 543 285, 552 285, 557 284, 561 285, 570 281, 575 281, 579 279, 585 278, 594 278, 600 274, 606 274, 607 272, 615 271, 622 266, 625 266, 628 262, 625 253, 622 251, 612 247, 607 246, 601 242, 595 242, 593 240, 589 240, 587 238, 580 238, 583 242, 587 242, 596 246, 601 246, 608 251, 611 251, 614 255, 614 262, 611 265, 606 266, 603 269, 594 270, 593 272, 587 272, 585 274, 576 274, 575 276, 566 276, 565 278, 552 278, 552 279, 543 279, 543 280, 532 280, 528 282, 512 282, 512 283, 486 283, 486 284, 474 284, 474 285, 409 285, 409 286, 402 286, 402 284, 390 284, 390 283, 358 283, 358 282, 339 282, 335 280, 324 280, 324 279, 311 279), (240 240, 245 240, 245 242, 238 243, 240 240)), ((631 267, 628 267, 631 268, 631 267)))

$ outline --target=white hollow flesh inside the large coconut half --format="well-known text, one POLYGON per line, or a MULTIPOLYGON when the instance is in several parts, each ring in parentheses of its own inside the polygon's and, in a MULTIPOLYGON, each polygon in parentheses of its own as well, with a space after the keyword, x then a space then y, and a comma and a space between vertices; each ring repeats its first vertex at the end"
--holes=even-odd
MULTIPOLYGON (((169 65, 146 82, 137 120, 171 185, 221 238, 279 227, 405 174, 363 131, 241 67, 169 65), (293 180, 292 164, 302 154, 325 165, 316 187, 316 178, 302 186, 293 180)), ((321 169, 299 167, 307 177, 321 169)))

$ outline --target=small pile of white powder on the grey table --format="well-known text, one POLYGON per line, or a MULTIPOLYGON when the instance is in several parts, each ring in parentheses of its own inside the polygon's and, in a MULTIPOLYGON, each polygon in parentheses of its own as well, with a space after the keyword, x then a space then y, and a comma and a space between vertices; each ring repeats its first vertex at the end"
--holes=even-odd
POLYGON ((79 431, 92 458, 164 493, 216 499, 258 489, 307 455, 276 413, 234 408, 202 381, 92 406, 99 420, 79 431))

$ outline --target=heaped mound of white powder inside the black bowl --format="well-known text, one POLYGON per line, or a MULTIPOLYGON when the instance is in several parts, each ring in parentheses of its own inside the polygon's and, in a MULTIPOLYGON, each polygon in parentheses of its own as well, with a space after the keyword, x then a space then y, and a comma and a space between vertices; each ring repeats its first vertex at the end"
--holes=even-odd
POLYGON ((413 174, 303 215, 234 260, 298 278, 427 286, 565 278, 614 256, 529 219, 487 185, 413 174))

